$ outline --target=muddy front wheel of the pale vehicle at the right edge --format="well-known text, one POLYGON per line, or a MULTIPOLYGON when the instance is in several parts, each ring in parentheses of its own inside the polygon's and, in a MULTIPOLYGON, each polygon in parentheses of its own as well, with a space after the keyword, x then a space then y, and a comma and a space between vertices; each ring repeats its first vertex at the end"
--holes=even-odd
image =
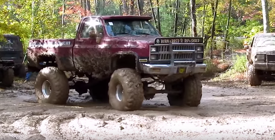
POLYGON ((262 84, 262 80, 253 65, 248 67, 247 80, 251 86, 259 86, 262 84))

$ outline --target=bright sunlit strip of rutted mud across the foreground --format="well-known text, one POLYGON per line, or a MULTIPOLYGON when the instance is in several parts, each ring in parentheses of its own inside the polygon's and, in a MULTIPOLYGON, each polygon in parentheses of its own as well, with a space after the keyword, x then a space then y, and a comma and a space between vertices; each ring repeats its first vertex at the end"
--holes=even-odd
POLYGON ((26 115, 10 126, 13 126, 13 133, 15 133, 11 136, 20 140, 30 140, 30 135, 36 139, 40 136, 37 140, 182 138, 206 140, 214 137, 228 140, 233 138, 252 140, 273 139, 275 124, 270 123, 272 121, 274 118, 265 116, 202 119, 174 115, 140 116, 66 112, 51 116, 26 115))

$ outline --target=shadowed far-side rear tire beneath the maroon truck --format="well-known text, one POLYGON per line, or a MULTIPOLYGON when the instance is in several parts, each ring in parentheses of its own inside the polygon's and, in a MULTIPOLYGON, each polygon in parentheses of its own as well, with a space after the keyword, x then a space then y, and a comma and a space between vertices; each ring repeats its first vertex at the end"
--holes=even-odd
POLYGON ((90 95, 93 98, 93 101, 99 101, 108 103, 108 83, 110 78, 100 81, 97 84, 93 85, 90 90, 90 95))

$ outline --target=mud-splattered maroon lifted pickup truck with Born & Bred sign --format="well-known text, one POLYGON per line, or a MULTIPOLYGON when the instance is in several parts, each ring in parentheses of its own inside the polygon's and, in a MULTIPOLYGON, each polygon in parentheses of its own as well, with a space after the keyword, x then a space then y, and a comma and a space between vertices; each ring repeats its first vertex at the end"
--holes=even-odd
POLYGON ((30 40, 28 69, 39 72, 38 102, 66 104, 69 89, 79 94, 89 89, 93 100, 109 101, 120 111, 138 110, 156 93, 167 93, 170 105, 198 106, 202 84, 197 74, 206 68, 203 38, 163 38, 150 19, 85 17, 75 39, 30 40), (84 76, 88 82, 79 79, 84 76), (149 77, 152 82, 141 80, 149 77), (148 87, 154 82, 165 84, 165 90, 148 87))

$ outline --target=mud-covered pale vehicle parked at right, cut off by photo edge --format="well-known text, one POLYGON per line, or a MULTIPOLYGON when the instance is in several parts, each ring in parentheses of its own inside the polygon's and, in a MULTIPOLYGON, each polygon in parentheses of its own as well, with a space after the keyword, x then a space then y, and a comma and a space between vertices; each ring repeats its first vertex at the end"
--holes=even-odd
POLYGON ((259 33, 253 37, 247 49, 247 80, 251 86, 259 86, 262 80, 270 80, 275 74, 275 33, 259 33))

